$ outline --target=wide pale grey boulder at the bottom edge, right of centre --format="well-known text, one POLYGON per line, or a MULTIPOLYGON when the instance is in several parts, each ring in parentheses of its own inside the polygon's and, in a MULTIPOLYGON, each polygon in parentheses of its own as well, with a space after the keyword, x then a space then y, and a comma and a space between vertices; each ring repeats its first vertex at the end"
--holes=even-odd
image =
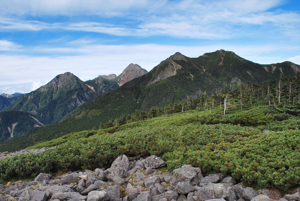
MULTIPOLYGON (((204 201, 208 199, 224 198, 227 199, 228 194, 223 184, 208 184, 194 192, 196 201, 204 201)), ((249 200, 250 201, 250 200, 249 200)))

